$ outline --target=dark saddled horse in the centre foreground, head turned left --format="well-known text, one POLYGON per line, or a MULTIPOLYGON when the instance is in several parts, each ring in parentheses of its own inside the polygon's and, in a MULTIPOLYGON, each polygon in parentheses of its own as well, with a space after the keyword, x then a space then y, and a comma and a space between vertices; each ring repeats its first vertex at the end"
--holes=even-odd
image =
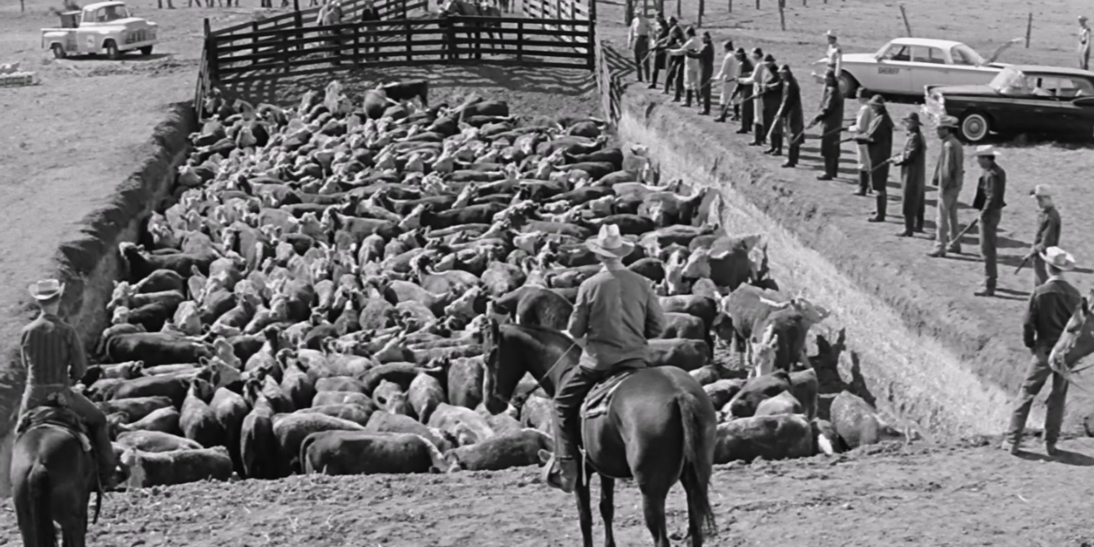
MULTIPOLYGON (((491 414, 505 409, 513 388, 525 372, 554 396, 562 374, 577 366, 581 357, 573 340, 558 330, 533 325, 499 325, 492 318, 482 327, 482 344, 486 353, 482 393, 491 414)), ((701 546, 705 525, 714 527, 708 488, 717 423, 714 406, 702 386, 682 369, 642 369, 619 383, 607 411, 582 421, 587 465, 586 473, 578 478, 574 493, 585 547, 593 545, 589 499, 593 472, 601 476, 601 515, 606 547, 615 546, 612 516, 617 478, 633 478, 638 482, 645 525, 656 547, 670 547, 665 497, 677 480, 683 482, 687 492, 691 546, 701 546)))

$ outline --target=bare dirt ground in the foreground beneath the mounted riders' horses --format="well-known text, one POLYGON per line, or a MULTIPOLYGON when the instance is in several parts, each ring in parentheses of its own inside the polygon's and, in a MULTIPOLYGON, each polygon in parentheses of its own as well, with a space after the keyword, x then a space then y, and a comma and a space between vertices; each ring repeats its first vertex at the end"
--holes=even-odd
MULTIPOLYGON (((719 466, 711 485, 718 535, 707 545, 1091 547, 1094 440, 1061 446, 1068 453, 1060 461, 991 446, 876 445, 873 454, 719 466)), ((602 545, 593 488, 595 544, 602 545)), ((650 545, 638 489, 627 482, 616 490, 618 544, 650 545)), ((685 545, 678 487, 667 507, 674 545, 685 545)), ((10 500, 0 504, 0 545, 19 542, 12 511, 10 500)), ((112 493, 89 545, 547 547, 580 538, 572 497, 525 467, 112 493)))

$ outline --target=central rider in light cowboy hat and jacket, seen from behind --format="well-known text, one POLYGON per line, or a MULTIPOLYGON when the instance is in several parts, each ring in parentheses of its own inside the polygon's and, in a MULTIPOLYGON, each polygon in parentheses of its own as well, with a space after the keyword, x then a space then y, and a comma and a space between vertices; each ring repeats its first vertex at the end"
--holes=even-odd
POLYGON ((582 348, 581 360, 555 393, 555 455, 544 468, 544 481, 566 492, 573 491, 579 473, 582 401, 600 380, 647 366, 647 340, 661 335, 665 324, 651 283, 622 265, 635 244, 619 234, 619 226, 604 224, 585 245, 604 268, 578 288, 568 330, 582 348))

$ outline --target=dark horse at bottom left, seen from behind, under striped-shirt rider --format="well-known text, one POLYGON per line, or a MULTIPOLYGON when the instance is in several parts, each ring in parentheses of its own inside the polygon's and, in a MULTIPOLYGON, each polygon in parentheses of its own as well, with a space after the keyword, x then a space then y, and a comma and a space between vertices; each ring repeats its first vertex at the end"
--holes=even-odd
POLYGON ((19 529, 26 547, 84 547, 88 502, 98 492, 94 456, 73 431, 83 431, 71 410, 54 406, 32 409, 21 420, 11 453, 11 490, 19 529))

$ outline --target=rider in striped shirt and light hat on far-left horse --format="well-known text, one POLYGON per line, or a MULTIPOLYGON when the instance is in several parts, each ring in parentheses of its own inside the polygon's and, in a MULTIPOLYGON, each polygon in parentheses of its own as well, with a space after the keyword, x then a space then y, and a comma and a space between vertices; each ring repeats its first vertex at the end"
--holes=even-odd
POLYGON ((26 366, 26 389, 20 416, 56 398, 83 418, 95 447, 100 481, 104 490, 110 489, 115 464, 106 415, 71 389, 72 384, 88 372, 88 358, 75 329, 57 315, 65 286, 56 279, 46 279, 32 284, 30 291, 42 313, 20 333, 22 360, 26 366))

